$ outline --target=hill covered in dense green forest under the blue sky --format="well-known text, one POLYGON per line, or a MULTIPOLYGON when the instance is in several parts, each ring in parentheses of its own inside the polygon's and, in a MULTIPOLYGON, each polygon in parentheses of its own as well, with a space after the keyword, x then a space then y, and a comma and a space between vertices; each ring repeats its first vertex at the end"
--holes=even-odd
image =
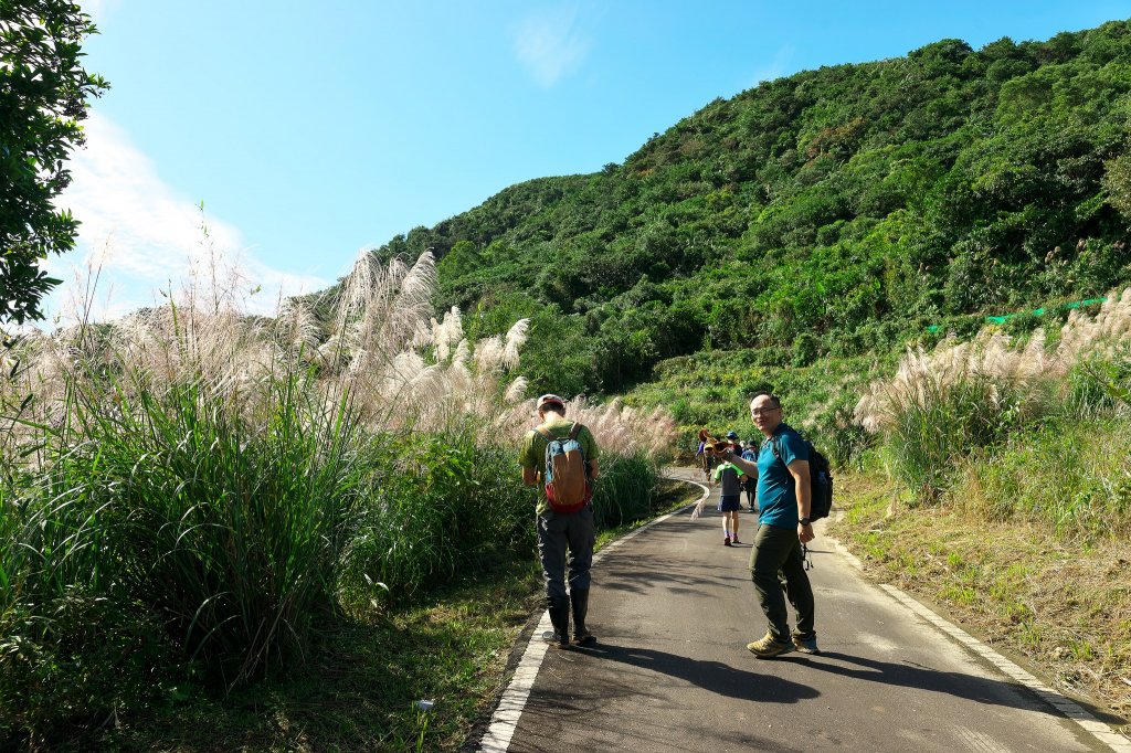
POLYGON ((805 365, 1131 279, 1131 24, 943 40, 717 99, 623 164, 506 189, 434 249, 477 335, 532 317, 533 389, 618 392, 661 360, 805 365))

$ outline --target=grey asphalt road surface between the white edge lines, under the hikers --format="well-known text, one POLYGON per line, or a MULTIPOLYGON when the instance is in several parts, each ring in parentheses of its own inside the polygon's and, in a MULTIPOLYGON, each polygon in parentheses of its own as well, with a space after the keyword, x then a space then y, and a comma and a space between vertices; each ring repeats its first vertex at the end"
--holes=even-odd
MULTIPOLYGON (((757 516, 743 511, 740 537, 757 516)), ((723 546, 714 500, 594 568, 598 643, 546 652, 510 751, 1111 750, 810 545, 821 656, 765 660, 750 546, 723 546)), ((791 618, 793 617, 791 613, 791 618)))

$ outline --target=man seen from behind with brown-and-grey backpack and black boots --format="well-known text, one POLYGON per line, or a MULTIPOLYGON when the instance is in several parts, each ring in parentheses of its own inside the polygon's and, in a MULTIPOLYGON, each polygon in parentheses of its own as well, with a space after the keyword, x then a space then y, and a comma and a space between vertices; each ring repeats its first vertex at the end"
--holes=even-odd
POLYGON ((593 565, 592 482, 597 478, 597 442, 588 429, 566 418, 566 401, 556 395, 539 397, 537 412, 541 424, 526 435, 518 461, 523 483, 538 485, 538 556, 554 626, 553 633, 544 638, 559 648, 569 647, 572 606, 573 640, 584 646, 597 640, 585 626, 593 565))

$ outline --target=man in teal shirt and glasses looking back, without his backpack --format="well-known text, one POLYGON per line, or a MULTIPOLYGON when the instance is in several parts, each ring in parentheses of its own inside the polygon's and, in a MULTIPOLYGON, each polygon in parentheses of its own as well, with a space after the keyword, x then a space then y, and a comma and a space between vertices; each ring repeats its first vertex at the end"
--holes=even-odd
POLYGON ((820 654, 813 630, 813 589, 801 554, 802 543, 813 540, 809 450, 801 435, 782 421, 782 401, 776 395, 756 395, 750 401, 750 417, 766 436, 757 462, 734 452, 722 456, 745 474, 758 476, 760 512, 750 574, 769 625, 766 635, 746 648, 760 659, 793 650, 820 654), (778 571, 785 577, 785 595, 778 571), (786 596, 797 611, 797 629, 792 634, 786 596))

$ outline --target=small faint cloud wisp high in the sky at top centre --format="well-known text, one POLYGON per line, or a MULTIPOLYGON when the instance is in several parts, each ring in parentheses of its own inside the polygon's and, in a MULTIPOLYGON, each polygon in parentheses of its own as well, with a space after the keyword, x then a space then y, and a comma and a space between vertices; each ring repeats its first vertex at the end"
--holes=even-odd
POLYGON ((515 25, 515 55, 538 86, 552 87, 589 54, 592 42, 578 29, 577 18, 577 6, 558 6, 535 10, 515 25))

